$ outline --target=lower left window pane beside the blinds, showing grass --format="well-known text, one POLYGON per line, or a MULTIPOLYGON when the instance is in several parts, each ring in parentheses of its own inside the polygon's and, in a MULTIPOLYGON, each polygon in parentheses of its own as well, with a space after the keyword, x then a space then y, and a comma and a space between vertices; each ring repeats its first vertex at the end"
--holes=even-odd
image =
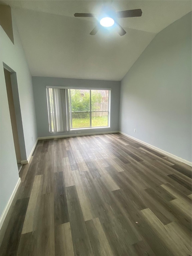
POLYGON ((73 128, 90 127, 90 112, 72 112, 73 128))

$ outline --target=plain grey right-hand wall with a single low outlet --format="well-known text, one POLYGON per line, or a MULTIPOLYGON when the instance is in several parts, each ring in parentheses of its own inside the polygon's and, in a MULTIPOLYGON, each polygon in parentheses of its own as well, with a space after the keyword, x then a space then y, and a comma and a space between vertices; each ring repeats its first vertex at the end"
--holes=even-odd
POLYGON ((123 78, 120 131, 191 162, 191 114, 190 12, 159 32, 123 78))

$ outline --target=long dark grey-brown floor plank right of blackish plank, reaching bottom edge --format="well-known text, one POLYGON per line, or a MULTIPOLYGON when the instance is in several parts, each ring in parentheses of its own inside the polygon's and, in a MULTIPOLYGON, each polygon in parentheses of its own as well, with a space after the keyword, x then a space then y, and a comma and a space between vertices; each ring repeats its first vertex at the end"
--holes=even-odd
POLYGON ((66 188, 67 206, 75 255, 93 255, 75 186, 66 188))

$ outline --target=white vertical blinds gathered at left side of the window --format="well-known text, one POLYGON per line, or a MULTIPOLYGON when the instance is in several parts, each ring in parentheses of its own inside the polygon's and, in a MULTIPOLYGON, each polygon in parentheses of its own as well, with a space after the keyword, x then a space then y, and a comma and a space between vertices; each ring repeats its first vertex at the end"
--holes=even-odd
POLYGON ((68 89, 47 88, 49 132, 70 131, 68 89))

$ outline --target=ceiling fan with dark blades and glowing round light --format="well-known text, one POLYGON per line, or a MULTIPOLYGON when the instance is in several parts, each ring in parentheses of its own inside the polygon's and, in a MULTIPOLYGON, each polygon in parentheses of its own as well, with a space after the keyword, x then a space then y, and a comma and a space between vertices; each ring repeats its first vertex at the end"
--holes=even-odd
POLYGON ((120 36, 125 35, 126 31, 117 22, 117 18, 140 17, 142 15, 141 9, 118 11, 116 12, 112 7, 103 7, 99 15, 92 13, 75 13, 75 17, 95 17, 98 24, 91 31, 90 35, 95 35, 101 27, 115 26, 120 36))

